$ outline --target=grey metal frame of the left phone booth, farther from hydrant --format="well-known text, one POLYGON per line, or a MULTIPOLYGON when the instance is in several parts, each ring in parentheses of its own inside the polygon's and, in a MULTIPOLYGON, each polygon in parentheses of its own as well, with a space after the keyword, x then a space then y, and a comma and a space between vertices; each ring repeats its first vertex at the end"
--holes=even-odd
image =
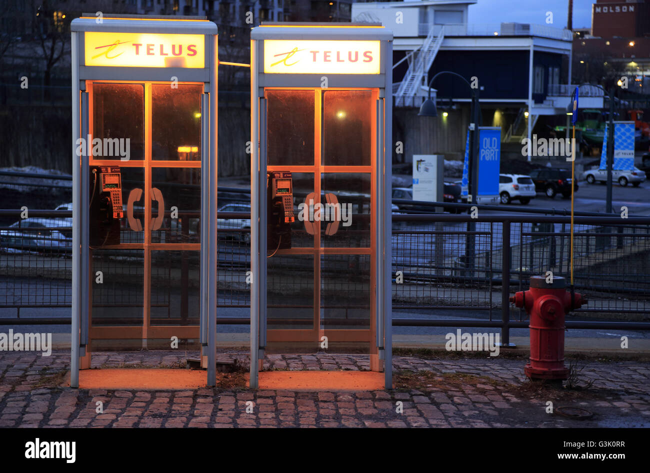
MULTIPOLYGON (((72 363, 70 385, 79 387, 79 369, 90 367, 90 340, 142 339, 143 348, 149 336, 168 338, 198 338, 201 343, 201 364, 207 366, 207 385, 216 384, 216 177, 217 177, 217 78, 218 31, 211 21, 201 17, 109 15, 98 18, 83 14, 71 23, 72 30, 72 175, 73 175, 73 234, 72 234, 72 363), (87 65, 85 41, 88 32, 124 34, 192 34, 202 35, 203 67, 141 67, 140 64, 112 66, 87 65), (151 86, 171 83, 201 84, 201 155, 200 160, 172 161, 151 159, 151 86), (144 157, 142 161, 92 159, 88 153, 77 156, 77 140, 92 133, 92 84, 138 83, 144 86, 144 157), (148 98, 146 98, 148 97, 148 98), (144 306, 142 327, 92 326, 92 274, 89 249, 89 166, 118 165, 120 168, 142 168, 144 186, 151 187, 151 168, 200 168, 201 213, 200 243, 151 244, 150 219, 144 218, 143 243, 120 244, 102 248, 144 249, 144 306), (200 250, 200 326, 151 326, 150 249, 200 250)), ((115 43, 110 43, 113 45, 115 43)), ((121 44, 118 39, 116 44, 121 44)), ((148 53, 148 51, 147 51, 148 53)), ((162 53, 162 47, 161 47, 162 53)), ((114 53, 110 59, 118 57, 114 53)), ((109 58, 109 55, 106 55, 109 58)), ((127 56, 128 57, 128 56, 127 56)), ((146 64, 146 63, 145 63, 146 64)), ((151 202, 144 199, 144 214, 151 214, 151 202)))

